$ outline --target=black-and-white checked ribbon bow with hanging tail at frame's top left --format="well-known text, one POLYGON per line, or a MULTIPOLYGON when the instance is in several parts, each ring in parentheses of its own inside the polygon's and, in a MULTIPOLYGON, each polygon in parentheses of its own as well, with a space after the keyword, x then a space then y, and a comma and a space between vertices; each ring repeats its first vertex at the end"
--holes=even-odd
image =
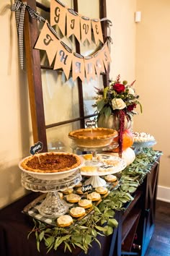
POLYGON ((21 69, 24 69, 24 43, 23 43, 23 32, 24 32, 24 13, 25 9, 29 12, 30 16, 39 20, 40 22, 45 22, 45 19, 40 16, 34 9, 32 9, 27 2, 15 1, 12 4, 11 10, 15 12, 15 20, 17 23, 17 33, 18 33, 18 41, 19 41, 19 61, 21 69))

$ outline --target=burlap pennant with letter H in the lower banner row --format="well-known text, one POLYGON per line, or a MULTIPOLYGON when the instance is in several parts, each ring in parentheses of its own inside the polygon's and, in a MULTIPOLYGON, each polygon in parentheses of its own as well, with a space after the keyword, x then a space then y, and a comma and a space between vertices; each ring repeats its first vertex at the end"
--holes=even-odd
POLYGON ((58 52, 55 58, 54 69, 62 68, 67 80, 71 70, 72 58, 73 54, 67 51, 66 48, 64 48, 62 44, 60 44, 60 46, 58 46, 58 52))

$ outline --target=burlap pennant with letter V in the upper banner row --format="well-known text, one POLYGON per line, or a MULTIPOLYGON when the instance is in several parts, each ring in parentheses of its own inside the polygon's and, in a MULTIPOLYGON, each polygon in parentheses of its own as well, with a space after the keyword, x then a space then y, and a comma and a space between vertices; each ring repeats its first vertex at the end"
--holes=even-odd
POLYGON ((81 42, 84 43, 86 39, 91 43, 91 20, 81 17, 81 42))

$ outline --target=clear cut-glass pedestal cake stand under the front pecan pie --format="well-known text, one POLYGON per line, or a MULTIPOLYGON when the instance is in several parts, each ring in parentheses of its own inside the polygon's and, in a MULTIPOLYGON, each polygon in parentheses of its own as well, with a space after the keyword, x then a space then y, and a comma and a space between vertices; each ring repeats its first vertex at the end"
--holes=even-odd
POLYGON ((22 171, 21 183, 26 189, 34 192, 47 193, 45 200, 38 205, 38 211, 42 216, 56 218, 68 211, 67 203, 61 199, 58 191, 74 187, 81 182, 81 172, 77 169, 73 174, 63 179, 37 179, 27 172, 22 171))

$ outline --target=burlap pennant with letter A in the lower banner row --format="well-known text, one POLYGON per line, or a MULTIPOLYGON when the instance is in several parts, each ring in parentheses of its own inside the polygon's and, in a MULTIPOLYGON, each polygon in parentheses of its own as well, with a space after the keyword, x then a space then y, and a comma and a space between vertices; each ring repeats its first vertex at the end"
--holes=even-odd
POLYGON ((76 80, 77 77, 80 77, 81 81, 84 82, 84 58, 73 55, 72 77, 73 81, 76 80))

